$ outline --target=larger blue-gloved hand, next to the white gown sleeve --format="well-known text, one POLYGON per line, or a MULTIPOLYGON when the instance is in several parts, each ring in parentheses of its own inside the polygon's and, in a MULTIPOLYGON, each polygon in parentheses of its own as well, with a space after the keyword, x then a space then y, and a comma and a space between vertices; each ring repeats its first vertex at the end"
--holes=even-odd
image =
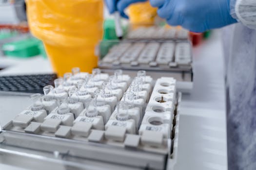
POLYGON ((158 15, 172 26, 192 32, 220 28, 236 21, 230 15, 230 0, 150 0, 158 15))

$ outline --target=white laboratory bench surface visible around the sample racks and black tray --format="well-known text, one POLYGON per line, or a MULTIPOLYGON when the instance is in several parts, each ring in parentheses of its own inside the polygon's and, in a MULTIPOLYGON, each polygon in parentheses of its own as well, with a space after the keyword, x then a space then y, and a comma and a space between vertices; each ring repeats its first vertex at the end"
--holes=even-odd
MULTIPOLYGON (((182 96, 175 170, 227 170, 224 60, 220 32, 215 31, 193 53, 194 89, 190 95, 182 96)), ((0 70, 0 75, 52 72, 49 61, 40 56, 29 59, 0 57, 0 68, 5 68, 0 70)), ((22 103, 19 101, 19 98, 8 100, 0 97, 0 123, 13 118, 29 104, 28 98, 22 103)), ((0 164, 0 170, 22 169, 0 164)))

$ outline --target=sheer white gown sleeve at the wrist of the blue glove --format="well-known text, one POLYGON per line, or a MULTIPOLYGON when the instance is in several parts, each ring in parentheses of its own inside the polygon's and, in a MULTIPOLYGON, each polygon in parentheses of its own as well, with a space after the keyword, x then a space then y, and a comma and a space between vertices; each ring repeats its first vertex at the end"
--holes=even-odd
POLYGON ((256 29, 256 0, 230 0, 230 13, 245 26, 256 29))

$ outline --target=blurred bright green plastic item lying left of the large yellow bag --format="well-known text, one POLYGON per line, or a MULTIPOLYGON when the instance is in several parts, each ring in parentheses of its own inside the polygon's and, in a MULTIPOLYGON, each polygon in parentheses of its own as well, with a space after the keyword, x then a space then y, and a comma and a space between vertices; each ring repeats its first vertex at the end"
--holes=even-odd
POLYGON ((6 43, 2 46, 2 51, 6 56, 28 58, 39 55, 40 40, 36 38, 26 38, 20 41, 6 43))

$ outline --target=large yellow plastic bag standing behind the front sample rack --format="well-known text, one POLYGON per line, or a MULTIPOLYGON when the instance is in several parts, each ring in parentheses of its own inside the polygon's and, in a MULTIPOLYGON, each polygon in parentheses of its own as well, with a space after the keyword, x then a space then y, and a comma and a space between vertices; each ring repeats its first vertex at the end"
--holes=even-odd
POLYGON ((97 67, 95 47, 103 35, 102 0, 26 0, 31 33, 44 43, 53 69, 97 67))

